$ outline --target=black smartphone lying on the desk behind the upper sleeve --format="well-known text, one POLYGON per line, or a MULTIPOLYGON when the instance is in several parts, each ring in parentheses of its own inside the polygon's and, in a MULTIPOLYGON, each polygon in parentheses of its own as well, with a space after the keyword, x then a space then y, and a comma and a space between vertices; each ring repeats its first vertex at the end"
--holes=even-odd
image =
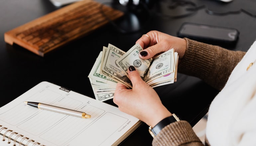
POLYGON ((177 36, 222 47, 233 47, 237 43, 239 31, 235 28, 185 22, 177 36))

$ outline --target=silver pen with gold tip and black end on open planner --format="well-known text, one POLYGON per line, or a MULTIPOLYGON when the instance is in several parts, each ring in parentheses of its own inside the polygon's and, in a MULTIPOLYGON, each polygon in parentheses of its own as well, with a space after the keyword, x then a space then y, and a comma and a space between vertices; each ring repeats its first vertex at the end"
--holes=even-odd
POLYGON ((38 102, 24 101, 24 103, 27 105, 39 108, 39 109, 44 109, 44 110, 48 110, 48 111, 52 111, 52 112, 57 112, 57 113, 80 117, 80 118, 91 118, 91 115, 88 115, 84 112, 79 112, 79 111, 75 111, 75 110, 71 110, 71 109, 67 109, 67 108, 63 108, 63 107, 58 107, 58 106, 48 105, 48 104, 38 103, 38 102))

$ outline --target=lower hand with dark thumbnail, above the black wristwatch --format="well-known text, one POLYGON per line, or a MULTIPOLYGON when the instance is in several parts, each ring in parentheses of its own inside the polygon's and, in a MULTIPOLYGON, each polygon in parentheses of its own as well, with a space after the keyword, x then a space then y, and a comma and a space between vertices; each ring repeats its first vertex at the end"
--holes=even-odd
POLYGON ((134 66, 129 67, 129 78, 133 88, 118 83, 113 101, 120 111, 132 115, 147 125, 154 127, 158 122, 172 114, 162 104, 156 91, 147 85, 134 66))

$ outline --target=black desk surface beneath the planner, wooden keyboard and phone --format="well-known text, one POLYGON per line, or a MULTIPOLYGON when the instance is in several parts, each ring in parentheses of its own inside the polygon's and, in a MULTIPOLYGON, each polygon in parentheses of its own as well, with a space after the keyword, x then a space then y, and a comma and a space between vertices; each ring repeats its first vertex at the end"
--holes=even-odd
MULTIPOLYGON (((256 18, 253 14, 255 13, 255 2, 249 0, 234 0, 227 4, 217 0, 191 0, 191 2, 196 4, 198 10, 188 17, 163 18, 155 12, 177 15, 183 13, 184 10, 179 13, 170 11, 168 3, 157 2, 156 7, 152 8, 150 12, 150 19, 145 23, 141 21, 139 26, 142 26, 143 29, 136 33, 119 33, 112 25, 106 25, 58 51, 41 57, 19 46, 6 44, 4 32, 58 8, 47 0, 5 0, 0 5, 0 106, 7 104, 42 81, 52 82, 94 98, 87 76, 102 47, 111 43, 127 51, 142 34, 150 30, 159 30, 176 36, 176 32, 183 22, 195 22, 238 29, 240 36, 237 45, 228 49, 246 51, 254 42, 256 38, 254 32, 256 18), (237 13, 238 11, 240 13, 237 13), (207 12, 214 12, 215 15, 207 12), (232 14, 224 15, 227 12, 232 14)), ((116 4, 113 5, 113 7, 116 6, 116 4)), ((134 11, 133 8, 130 10, 134 11)), ((122 23, 123 27, 127 25, 127 28, 137 26, 126 18, 121 20, 120 24, 122 23)), ((192 126, 207 113, 210 102, 217 94, 216 90, 201 80, 183 74, 178 74, 176 83, 157 87, 155 90, 171 112, 178 114, 183 120, 189 121, 192 126)), ((105 102, 114 105, 112 100, 105 102)), ((151 141, 152 137, 148 133, 148 126, 144 124, 121 145, 151 145, 151 141)))

